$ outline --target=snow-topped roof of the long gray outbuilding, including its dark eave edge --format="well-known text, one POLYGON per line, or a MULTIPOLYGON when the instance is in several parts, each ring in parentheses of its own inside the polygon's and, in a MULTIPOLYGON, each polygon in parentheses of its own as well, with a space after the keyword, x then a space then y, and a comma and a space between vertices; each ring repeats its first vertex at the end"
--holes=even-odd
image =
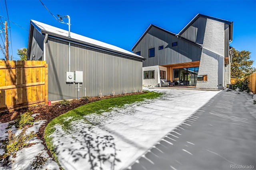
MULTIPOLYGON (((34 28, 36 28, 36 30, 38 30, 38 32, 40 32, 40 34, 42 34, 42 35, 48 34, 53 37, 61 38, 62 40, 66 40, 69 42, 79 43, 81 45, 86 45, 88 47, 96 47, 97 49, 100 49, 100 50, 114 52, 114 53, 117 53, 120 55, 125 55, 128 57, 132 57, 132 58, 136 58, 136 59, 140 59, 140 60, 145 60, 144 57, 137 55, 135 53, 132 53, 130 51, 127 51, 125 49, 122 49, 120 47, 117 47, 115 45, 100 42, 98 40, 94 40, 94 39, 88 38, 86 36, 75 34, 73 32, 70 32, 70 37, 68 37, 67 30, 62 30, 60 28, 50 26, 50 25, 44 24, 42 22, 31 20, 31 26, 34 26, 34 28)), ((31 31, 31 29, 30 29, 30 31, 31 31)))

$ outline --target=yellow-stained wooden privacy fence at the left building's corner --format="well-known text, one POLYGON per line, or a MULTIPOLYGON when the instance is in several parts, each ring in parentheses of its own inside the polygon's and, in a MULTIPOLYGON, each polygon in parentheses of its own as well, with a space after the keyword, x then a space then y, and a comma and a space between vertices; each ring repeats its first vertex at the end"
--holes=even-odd
POLYGON ((46 61, 0 61, 0 112, 47 102, 46 61))

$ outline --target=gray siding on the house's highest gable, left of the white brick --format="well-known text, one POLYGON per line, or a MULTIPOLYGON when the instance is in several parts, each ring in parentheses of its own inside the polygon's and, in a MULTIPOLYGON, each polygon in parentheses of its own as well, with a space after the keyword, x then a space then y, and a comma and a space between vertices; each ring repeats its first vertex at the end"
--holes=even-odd
POLYGON ((199 17, 181 36, 192 42, 203 44, 206 20, 206 18, 199 17))

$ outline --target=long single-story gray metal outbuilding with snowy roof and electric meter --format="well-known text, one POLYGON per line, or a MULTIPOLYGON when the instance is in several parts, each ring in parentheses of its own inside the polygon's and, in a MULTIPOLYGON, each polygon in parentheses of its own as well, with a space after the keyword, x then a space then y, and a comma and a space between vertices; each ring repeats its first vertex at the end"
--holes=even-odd
POLYGON ((69 36, 66 30, 35 20, 30 22, 27 59, 48 63, 50 100, 142 89, 142 56, 72 32, 69 36))

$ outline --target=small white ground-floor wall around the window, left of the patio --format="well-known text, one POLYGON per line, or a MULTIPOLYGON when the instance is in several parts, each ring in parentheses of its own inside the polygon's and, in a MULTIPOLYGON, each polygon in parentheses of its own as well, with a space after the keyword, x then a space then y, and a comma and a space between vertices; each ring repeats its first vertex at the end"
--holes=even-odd
POLYGON ((142 85, 143 86, 153 86, 157 87, 159 83, 159 75, 160 71, 158 70, 158 65, 149 66, 149 67, 142 67, 142 85), (155 71, 155 78, 154 79, 144 79, 144 71, 155 71))

